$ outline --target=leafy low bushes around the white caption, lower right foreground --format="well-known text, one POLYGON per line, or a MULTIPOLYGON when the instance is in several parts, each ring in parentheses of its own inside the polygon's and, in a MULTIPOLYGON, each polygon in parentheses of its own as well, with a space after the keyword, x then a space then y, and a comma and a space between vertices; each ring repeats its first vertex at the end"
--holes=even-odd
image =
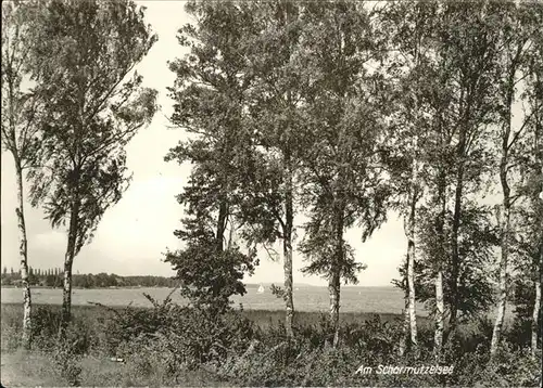
POLYGON ((329 323, 323 318, 319 325, 296 327, 295 337, 285 337, 281 324, 257 334, 245 353, 232 354, 217 374, 232 384, 243 386, 538 386, 541 362, 528 351, 504 347, 490 360, 485 321, 475 321, 462 327, 456 341, 445 350, 445 366, 452 375, 431 374, 355 374, 361 366, 435 365, 432 354, 433 332, 421 326, 418 359, 400 357, 396 344, 401 326, 374 318, 359 324, 341 327, 338 349, 327 345, 329 323), (472 338, 476 347, 469 345, 472 338), (457 353, 456 351, 458 351, 457 353))

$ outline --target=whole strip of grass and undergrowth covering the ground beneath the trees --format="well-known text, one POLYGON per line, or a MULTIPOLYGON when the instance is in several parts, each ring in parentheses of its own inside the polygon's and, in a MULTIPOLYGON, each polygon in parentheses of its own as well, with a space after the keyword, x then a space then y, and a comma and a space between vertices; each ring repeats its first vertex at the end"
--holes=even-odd
MULTIPOLYGON (((163 316, 156 306, 73 306, 70 344, 62 344, 55 336, 60 309, 58 305, 34 305, 35 322, 39 325, 35 327, 33 350, 24 351, 18 347, 22 306, 1 305, 3 386, 538 386, 541 383, 541 362, 527 355, 522 345, 505 344, 497 361, 489 361, 492 322, 484 316, 460 326, 458 341, 445 350, 449 354, 445 362, 455 365, 455 375, 441 378, 353 376, 362 364, 412 365, 415 362, 408 354, 397 354, 403 320, 400 314, 341 313, 343 345, 333 350, 326 347, 329 335, 326 313, 298 312, 296 339, 285 346, 283 311, 242 309, 241 315, 222 320, 216 326, 223 333, 217 339, 228 347, 228 353, 194 364, 187 363, 184 354, 201 351, 209 345, 213 348, 214 340, 207 345, 205 341, 210 334, 215 335, 216 322, 206 320, 205 315, 192 315, 181 309, 163 316), (129 323, 122 325, 121 332, 115 321, 117 313, 129 323), (169 320, 166 332, 153 328, 152 320, 156 316, 161 322, 163 318, 169 320), (255 329, 243 332, 243 320, 252 321, 255 329), (152 335, 136 335, 117 341, 113 348, 110 346, 112 338, 118 339, 123 331, 132 327, 139 327, 136 332, 151 327, 148 334, 152 335), (247 357, 254 339, 260 345, 247 357), (112 357, 123 357, 126 363, 112 362, 112 357)), ((431 320, 419 316, 421 355, 417 364, 434 362, 432 326, 431 320)), ((204 354, 212 353, 204 350, 204 354)))

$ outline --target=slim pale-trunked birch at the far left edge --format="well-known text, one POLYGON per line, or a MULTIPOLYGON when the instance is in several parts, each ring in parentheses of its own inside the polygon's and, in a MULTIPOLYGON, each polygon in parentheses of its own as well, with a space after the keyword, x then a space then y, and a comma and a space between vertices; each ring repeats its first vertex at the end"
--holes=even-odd
POLYGON ((24 171, 35 168, 40 145, 35 125, 39 96, 25 90, 29 82, 29 48, 33 44, 34 2, 2 2, 2 147, 15 165, 18 227, 18 258, 23 281, 23 345, 30 347, 31 294, 28 282, 28 242, 25 223, 24 171))

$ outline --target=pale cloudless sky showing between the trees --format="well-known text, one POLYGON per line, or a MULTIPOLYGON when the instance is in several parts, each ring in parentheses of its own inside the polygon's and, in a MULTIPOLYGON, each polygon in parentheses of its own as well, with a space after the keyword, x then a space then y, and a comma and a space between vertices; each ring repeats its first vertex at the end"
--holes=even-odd
MULTIPOLYGON (((190 170, 175 161, 164 161, 168 150, 184 139, 184 131, 171 128, 167 117, 172 114, 172 101, 166 87, 175 76, 167 68, 167 61, 185 54, 176 39, 179 27, 190 22, 182 1, 137 1, 147 7, 146 18, 159 35, 159 41, 137 66, 144 86, 159 90, 161 111, 148 128, 127 146, 127 167, 134 173, 130 187, 123 198, 108 209, 94 238, 83 247, 75 258, 74 273, 116 273, 118 275, 163 275, 175 272, 162 261, 162 253, 175 250, 179 241, 173 231, 180 227, 182 208, 175 199, 187 184, 190 170)), ((1 156, 1 266, 18 269, 17 221, 15 216, 15 170, 11 154, 1 156)), ((28 236, 28 263, 33 268, 63 267, 66 248, 64 229, 53 230, 40 209, 25 207, 28 236)), ((299 230, 298 242, 302 238, 299 230)), ((389 221, 364 244, 361 231, 352 229, 346 240, 356 250, 358 261, 367 269, 358 280, 363 286, 387 286, 397 276, 397 268, 406 253, 407 241, 403 221, 391 215, 389 221)), ((295 245, 294 245, 295 246, 295 245)), ((278 251, 279 248, 277 249, 278 251)), ((294 253, 294 283, 326 285, 319 276, 304 276, 300 254, 294 253)), ((249 283, 282 283, 282 263, 270 260, 260 253, 260 266, 249 283)))

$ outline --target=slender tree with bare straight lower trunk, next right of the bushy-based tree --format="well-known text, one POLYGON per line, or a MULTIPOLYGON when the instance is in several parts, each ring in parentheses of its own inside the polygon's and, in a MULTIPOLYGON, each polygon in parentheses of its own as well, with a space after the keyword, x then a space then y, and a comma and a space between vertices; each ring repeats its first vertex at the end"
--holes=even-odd
POLYGON ((302 30, 303 5, 292 1, 262 2, 255 12, 262 34, 254 41, 251 67, 255 82, 251 92, 251 126, 254 127, 254 155, 248 177, 245 211, 264 244, 282 242, 286 302, 286 331, 293 335, 294 319, 292 254, 294 240, 295 181, 300 169, 300 106, 307 74, 296 62, 302 30), (268 214, 268 217, 265 216, 268 214), (272 225, 268 228, 267 225, 272 225))

